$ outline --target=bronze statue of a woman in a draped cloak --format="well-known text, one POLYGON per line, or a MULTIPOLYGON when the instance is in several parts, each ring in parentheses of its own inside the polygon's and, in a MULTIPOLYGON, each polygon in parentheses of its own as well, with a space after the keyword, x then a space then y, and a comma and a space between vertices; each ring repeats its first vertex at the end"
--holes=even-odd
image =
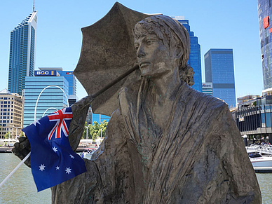
MULTIPOLYGON (((88 172, 54 186, 52 202, 261 203, 228 105, 190 87, 186 29, 154 15, 138 22, 133 35, 140 79, 119 93, 107 137, 84 160, 88 172)), ((79 104, 88 107, 86 100, 79 104)))

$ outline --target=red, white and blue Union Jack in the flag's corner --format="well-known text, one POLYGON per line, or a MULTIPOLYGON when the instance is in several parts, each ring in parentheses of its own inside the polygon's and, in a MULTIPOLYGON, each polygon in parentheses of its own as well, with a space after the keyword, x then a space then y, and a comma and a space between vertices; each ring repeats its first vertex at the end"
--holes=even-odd
POLYGON ((49 121, 57 121, 54 128, 48 134, 48 140, 51 140, 53 135, 55 135, 55 138, 62 137, 62 132, 68 137, 67 120, 72 120, 72 111, 69 111, 69 109, 61 109, 50 114, 48 118, 49 121))

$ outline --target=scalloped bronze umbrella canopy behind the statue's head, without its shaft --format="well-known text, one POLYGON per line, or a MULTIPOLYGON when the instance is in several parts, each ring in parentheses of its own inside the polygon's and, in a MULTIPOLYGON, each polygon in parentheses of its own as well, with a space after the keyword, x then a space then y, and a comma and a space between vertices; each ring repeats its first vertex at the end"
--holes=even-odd
MULTIPOLYGON (((83 42, 74 75, 89 95, 128 71, 136 62, 132 29, 137 22, 150 15, 132 11, 116 2, 101 20, 81 29, 83 42)), ((118 107, 117 95, 121 87, 139 79, 140 70, 126 76, 116 85, 95 97, 93 113, 111 116, 118 107)))

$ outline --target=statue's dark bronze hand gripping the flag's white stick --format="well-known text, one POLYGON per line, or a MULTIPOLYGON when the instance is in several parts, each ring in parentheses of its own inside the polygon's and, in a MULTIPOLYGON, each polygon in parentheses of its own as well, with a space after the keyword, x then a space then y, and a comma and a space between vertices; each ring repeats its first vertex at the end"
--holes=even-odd
MULTIPOLYGON (((19 142, 16 142, 14 144, 14 147, 12 149, 13 153, 18 156, 21 160, 27 156, 30 152, 30 143, 27 137, 19 137, 19 142)), ((27 158, 27 161, 25 161, 25 165, 27 165, 29 168, 31 168, 30 165, 30 157, 27 158)))

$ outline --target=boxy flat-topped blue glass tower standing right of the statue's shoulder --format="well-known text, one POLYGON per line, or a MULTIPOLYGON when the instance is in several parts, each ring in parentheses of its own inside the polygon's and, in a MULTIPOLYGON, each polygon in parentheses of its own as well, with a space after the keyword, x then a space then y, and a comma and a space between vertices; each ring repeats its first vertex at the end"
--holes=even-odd
POLYGON ((236 107, 233 50, 210 49, 204 58, 205 82, 212 83, 213 96, 224 100, 230 109, 236 107))

